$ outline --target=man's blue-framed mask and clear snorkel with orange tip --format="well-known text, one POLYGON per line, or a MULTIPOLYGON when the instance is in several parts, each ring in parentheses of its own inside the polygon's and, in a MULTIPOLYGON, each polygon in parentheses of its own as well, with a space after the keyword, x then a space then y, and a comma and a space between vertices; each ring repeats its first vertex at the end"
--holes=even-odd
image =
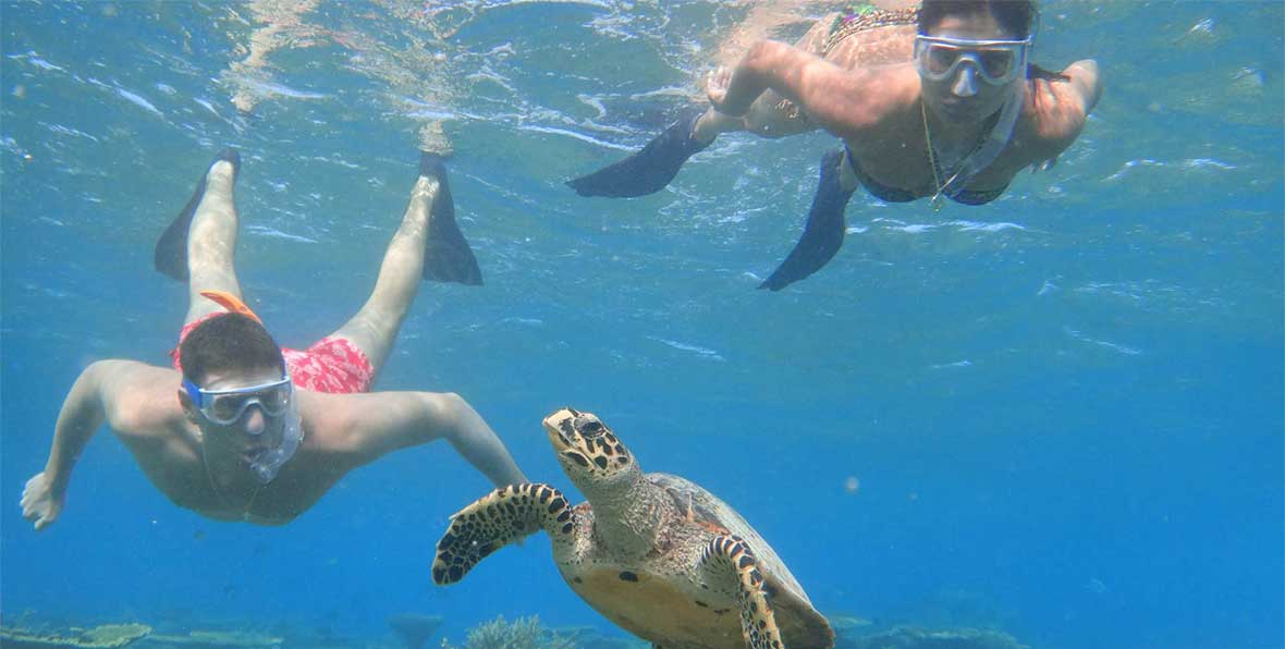
MULTIPOLYGON (((231 293, 203 290, 200 294, 218 302, 231 312, 263 324, 244 302, 231 293)), ((281 420, 280 442, 271 449, 258 451, 249 460, 251 469, 262 485, 276 478, 281 465, 294 456, 294 451, 298 450, 299 442, 303 440, 298 400, 294 398, 294 384, 290 382, 289 373, 284 373, 278 380, 231 389, 202 389, 185 378, 182 388, 202 416, 218 425, 235 424, 245 415, 249 406, 258 406, 266 419, 281 420)), ((261 436, 265 431, 266 428, 257 432, 247 431, 247 434, 261 436)))

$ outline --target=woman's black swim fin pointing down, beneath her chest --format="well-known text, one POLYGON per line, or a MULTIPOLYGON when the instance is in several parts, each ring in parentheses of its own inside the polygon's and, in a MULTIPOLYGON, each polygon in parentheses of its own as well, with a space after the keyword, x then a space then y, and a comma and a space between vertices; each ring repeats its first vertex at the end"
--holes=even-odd
POLYGON ((847 225, 843 209, 856 188, 847 190, 839 182, 839 168, 843 164, 843 149, 826 153, 821 158, 821 181, 812 197, 812 209, 807 213, 807 225, 799 243, 794 244, 789 257, 772 271, 767 281, 758 288, 780 290, 825 266, 843 245, 847 225))

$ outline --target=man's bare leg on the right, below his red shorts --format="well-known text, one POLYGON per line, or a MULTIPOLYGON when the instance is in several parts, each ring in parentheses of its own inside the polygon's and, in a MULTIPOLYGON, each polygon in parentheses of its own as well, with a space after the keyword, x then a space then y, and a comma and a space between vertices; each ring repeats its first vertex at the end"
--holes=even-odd
POLYGON ((384 261, 379 266, 375 289, 371 290, 361 311, 330 334, 335 338, 347 338, 361 350, 370 360, 375 374, 388 360, 397 330, 419 290, 419 280, 424 274, 425 248, 429 244, 429 229, 433 229, 434 234, 438 230, 432 221, 451 207, 447 206, 451 197, 446 190, 445 179, 446 167, 441 164, 439 158, 425 154, 420 175, 411 188, 410 203, 406 206, 401 226, 388 243, 384 261))

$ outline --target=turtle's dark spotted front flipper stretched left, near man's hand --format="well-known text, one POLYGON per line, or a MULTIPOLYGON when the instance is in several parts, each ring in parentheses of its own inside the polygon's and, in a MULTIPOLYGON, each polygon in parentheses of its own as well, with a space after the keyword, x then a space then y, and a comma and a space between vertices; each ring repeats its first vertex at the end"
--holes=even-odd
POLYGON ((571 508, 549 485, 500 487, 451 517, 451 527, 437 541, 433 581, 455 583, 488 554, 538 529, 556 541, 573 528, 571 508))

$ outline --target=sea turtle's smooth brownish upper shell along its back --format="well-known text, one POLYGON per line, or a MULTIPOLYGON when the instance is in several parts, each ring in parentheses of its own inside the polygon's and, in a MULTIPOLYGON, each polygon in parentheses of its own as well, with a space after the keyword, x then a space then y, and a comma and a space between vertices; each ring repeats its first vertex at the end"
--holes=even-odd
MULTIPOLYGON (((789 649, 834 646, 834 630, 817 613, 803 586, 771 545, 730 505, 704 487, 678 476, 649 473, 648 481, 664 490, 681 511, 691 511, 693 523, 714 533, 739 536, 753 550, 763 573, 763 587, 776 613, 776 626, 789 649)), ((739 622, 738 622, 739 625, 739 622)), ((738 626, 736 639, 740 640, 738 626)), ((743 646, 744 640, 739 644, 743 646)))

